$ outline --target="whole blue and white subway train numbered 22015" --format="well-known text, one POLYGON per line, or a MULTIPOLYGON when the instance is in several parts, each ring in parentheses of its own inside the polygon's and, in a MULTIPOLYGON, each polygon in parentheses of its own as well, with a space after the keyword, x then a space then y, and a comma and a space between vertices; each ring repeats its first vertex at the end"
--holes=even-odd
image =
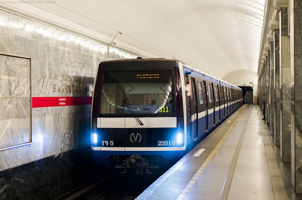
POLYGON ((103 61, 92 90, 93 157, 117 173, 168 168, 242 104, 242 89, 179 60, 103 61))

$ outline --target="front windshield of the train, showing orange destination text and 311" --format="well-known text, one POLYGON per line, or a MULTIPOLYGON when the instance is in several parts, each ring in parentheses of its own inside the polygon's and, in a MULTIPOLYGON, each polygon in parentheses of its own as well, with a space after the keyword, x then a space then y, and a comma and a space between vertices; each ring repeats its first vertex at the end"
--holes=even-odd
POLYGON ((100 114, 173 114, 171 71, 104 72, 100 114))

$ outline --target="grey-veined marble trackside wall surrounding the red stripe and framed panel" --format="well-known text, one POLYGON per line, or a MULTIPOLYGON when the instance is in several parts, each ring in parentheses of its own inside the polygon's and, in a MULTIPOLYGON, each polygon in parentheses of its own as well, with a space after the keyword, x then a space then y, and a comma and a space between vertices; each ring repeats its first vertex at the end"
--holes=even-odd
MULTIPOLYGON (((137 57, 112 47, 108 51, 100 42, 1 9, 0 53, 0 172, 13 172, 20 166, 23 170, 33 169, 28 163, 85 146, 90 148, 91 105, 31 108, 29 100, 88 97, 85 90, 63 92, 62 88, 65 85, 89 88, 101 61, 137 57), (3 145, 21 140, 31 143, 1 150, 3 145)), ((34 178, 35 172, 32 173, 28 176, 34 178)), ((9 193, 10 182, 5 174, 0 177, 0 196, 9 193), (8 185, 2 185, 3 181, 8 185)))

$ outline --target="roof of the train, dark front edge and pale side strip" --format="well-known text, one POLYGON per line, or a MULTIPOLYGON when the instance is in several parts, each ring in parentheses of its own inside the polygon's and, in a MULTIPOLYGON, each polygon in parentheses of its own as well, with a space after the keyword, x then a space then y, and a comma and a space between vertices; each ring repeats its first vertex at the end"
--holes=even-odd
POLYGON ((150 65, 150 67, 162 67, 162 65, 170 63, 171 65, 175 65, 175 67, 179 67, 178 63, 181 62, 186 68, 191 69, 193 71, 199 72, 201 74, 204 74, 210 78, 214 78, 218 81, 221 81, 223 83, 226 83, 228 85, 231 85, 233 87, 236 87, 238 89, 240 89, 239 87, 237 87, 236 85, 233 85, 229 82, 226 82, 222 79, 216 78, 215 76, 212 76, 206 72, 201 71, 200 69, 194 68, 180 60, 176 60, 176 59, 165 59, 165 58, 130 58, 130 59, 120 59, 120 60, 107 60, 107 61, 102 61, 99 64, 99 68, 104 69, 104 68, 120 68, 121 66, 124 66, 125 68, 129 65, 131 65, 132 67, 141 67, 140 63, 147 62, 147 65, 150 65), (157 65, 154 66, 154 61, 157 62, 157 65), (123 63, 122 65, 117 65, 117 63, 123 63))

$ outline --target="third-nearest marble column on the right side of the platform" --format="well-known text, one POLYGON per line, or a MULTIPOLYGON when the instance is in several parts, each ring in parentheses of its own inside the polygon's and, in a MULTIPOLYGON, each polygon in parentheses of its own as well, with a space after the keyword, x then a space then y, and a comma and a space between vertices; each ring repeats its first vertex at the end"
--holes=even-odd
POLYGON ((279 29, 274 30, 274 90, 275 90, 275 145, 280 146, 280 58, 279 29))

